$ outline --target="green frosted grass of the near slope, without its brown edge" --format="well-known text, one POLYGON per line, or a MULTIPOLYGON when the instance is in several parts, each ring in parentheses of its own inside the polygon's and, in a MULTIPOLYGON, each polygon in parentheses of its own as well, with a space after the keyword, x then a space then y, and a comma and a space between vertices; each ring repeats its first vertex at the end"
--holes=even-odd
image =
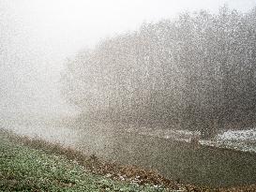
POLYGON ((0 191, 163 191, 113 181, 61 155, 18 145, 0 133, 0 191))

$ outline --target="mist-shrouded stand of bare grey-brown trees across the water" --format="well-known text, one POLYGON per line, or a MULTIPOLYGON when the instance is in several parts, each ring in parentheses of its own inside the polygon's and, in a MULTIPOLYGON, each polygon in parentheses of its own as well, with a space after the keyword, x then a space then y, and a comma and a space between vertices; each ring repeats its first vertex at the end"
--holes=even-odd
POLYGON ((256 8, 143 23, 67 62, 63 95, 84 118, 200 130, 252 126, 256 8))

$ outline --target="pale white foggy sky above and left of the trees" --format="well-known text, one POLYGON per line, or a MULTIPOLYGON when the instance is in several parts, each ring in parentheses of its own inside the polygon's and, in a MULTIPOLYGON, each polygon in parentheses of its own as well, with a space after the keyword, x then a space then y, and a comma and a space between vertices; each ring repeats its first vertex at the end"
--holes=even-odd
POLYGON ((217 12, 224 4, 244 12, 256 0, 0 0, 0 11, 8 11, 4 21, 14 28, 8 35, 11 52, 0 67, 1 73, 5 70, 0 80, 8 84, 6 106, 12 111, 67 111, 56 87, 68 56, 142 22, 183 11, 217 12))

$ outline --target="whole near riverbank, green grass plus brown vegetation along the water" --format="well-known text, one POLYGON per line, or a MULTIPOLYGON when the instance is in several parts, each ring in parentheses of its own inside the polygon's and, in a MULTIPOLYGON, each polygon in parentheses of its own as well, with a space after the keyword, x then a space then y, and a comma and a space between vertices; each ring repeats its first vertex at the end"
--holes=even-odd
POLYGON ((104 162, 58 143, 5 131, 0 131, 0 140, 4 191, 256 191, 255 185, 218 189, 183 185, 152 170, 104 162))

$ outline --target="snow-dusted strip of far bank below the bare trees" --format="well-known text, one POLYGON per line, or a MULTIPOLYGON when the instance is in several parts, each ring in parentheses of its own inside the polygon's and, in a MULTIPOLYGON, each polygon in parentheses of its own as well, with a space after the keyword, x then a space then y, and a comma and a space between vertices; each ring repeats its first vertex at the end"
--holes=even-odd
MULTIPOLYGON (((190 142, 193 138, 199 138, 199 132, 189 130, 166 130, 159 128, 134 128, 127 129, 128 132, 136 132, 141 135, 154 136, 168 140, 179 140, 190 142)), ((231 148, 239 151, 256 153, 256 128, 246 130, 227 130, 218 134, 213 140, 199 140, 202 145, 216 146, 220 148, 231 148)))

